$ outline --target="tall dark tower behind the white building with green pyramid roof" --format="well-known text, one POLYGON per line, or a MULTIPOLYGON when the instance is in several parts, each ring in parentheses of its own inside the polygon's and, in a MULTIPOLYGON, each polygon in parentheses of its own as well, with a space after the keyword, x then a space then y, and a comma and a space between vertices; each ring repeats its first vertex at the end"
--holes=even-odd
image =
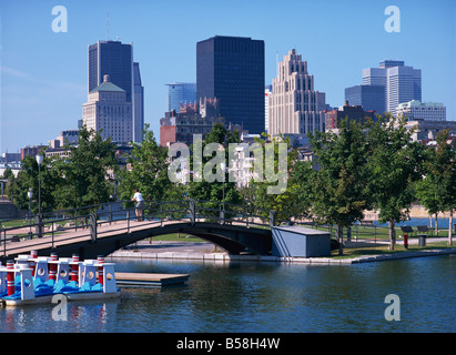
POLYGON ((143 91, 139 64, 133 64, 133 44, 116 41, 98 41, 89 45, 89 92, 103 83, 104 75, 110 82, 125 91, 126 102, 133 105, 132 140, 140 142, 144 123, 143 91), (135 99, 140 100, 138 106, 135 99))

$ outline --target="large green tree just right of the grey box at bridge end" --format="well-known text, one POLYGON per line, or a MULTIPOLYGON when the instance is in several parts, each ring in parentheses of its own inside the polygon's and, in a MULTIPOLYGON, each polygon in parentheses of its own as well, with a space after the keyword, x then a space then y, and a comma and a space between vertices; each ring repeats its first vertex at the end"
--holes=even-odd
POLYGON ((369 206, 366 133, 361 123, 344 119, 338 133, 316 132, 310 139, 318 165, 310 186, 312 212, 336 225, 343 254, 343 227, 362 220, 369 206))

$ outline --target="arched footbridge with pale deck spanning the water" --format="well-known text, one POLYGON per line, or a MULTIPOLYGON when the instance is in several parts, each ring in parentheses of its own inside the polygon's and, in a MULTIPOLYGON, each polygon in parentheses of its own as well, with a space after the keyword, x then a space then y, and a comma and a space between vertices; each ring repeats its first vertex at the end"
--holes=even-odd
MULTIPOLYGON (((219 202, 215 203, 220 205, 219 202)), ((38 250, 39 255, 54 252, 61 257, 79 254, 82 260, 95 258, 98 255, 112 254, 138 241, 171 233, 201 237, 229 254, 250 252, 268 255, 272 252, 272 232, 268 226, 275 222, 273 213, 270 219, 259 220, 260 216, 249 214, 245 206, 234 205, 230 210, 216 210, 204 207, 203 202, 194 200, 153 202, 149 206, 149 212, 145 210, 146 221, 142 222, 133 221, 134 207, 122 210, 125 216, 115 219, 112 219, 110 205, 109 209, 104 205, 102 210, 87 215, 74 213, 73 217, 67 217, 64 222, 73 220, 75 226, 59 230, 59 233, 54 233, 54 226, 61 220, 49 222, 39 216, 37 223, 30 224, 30 230, 33 226, 33 236, 37 237, 21 243, 9 243, 16 245, 8 251, 4 247, 2 258, 11 258, 31 250, 38 250), (85 217, 87 222, 78 225, 81 217, 85 217), (52 232, 44 230, 44 226, 51 227, 52 232)), ((7 242, 6 240, 4 245, 8 245, 7 242)))

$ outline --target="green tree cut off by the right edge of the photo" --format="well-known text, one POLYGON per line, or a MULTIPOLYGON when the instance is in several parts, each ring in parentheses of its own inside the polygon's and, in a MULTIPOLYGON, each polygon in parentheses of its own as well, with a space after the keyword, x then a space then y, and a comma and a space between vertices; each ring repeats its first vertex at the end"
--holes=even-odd
POLYGON ((437 134, 437 145, 426 150, 425 178, 418 183, 418 197, 432 213, 449 211, 448 245, 453 244, 453 210, 456 209, 456 153, 448 143, 449 131, 437 134))

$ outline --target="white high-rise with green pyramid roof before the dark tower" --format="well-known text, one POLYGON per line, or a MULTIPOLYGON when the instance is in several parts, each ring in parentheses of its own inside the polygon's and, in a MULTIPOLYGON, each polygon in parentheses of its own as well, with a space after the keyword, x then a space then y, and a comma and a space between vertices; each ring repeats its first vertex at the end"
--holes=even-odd
POLYGON ((132 103, 126 101, 125 90, 114 85, 104 75, 104 81, 89 92, 82 105, 82 122, 90 130, 100 132, 103 140, 129 143, 133 139, 132 103))

